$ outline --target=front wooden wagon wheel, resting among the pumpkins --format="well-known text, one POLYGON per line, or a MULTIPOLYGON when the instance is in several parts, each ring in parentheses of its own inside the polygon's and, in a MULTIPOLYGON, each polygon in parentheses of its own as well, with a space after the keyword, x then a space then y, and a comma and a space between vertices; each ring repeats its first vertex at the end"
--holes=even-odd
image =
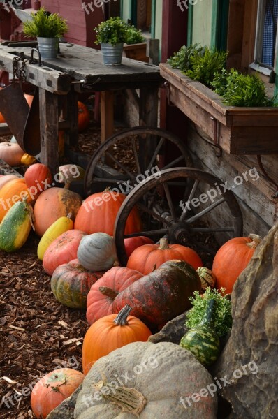
POLYGON ((126 237, 145 235, 155 240, 159 237, 168 237, 172 243, 185 244, 189 247, 193 244, 198 249, 213 253, 210 247, 200 244, 197 238, 198 234, 211 233, 228 233, 230 237, 242 235, 242 213, 233 192, 226 190, 221 179, 195 168, 162 170, 161 177, 152 175, 135 186, 122 203, 114 228, 117 254, 122 266, 126 266, 127 261, 124 249, 126 237), (181 202, 177 198, 176 188, 170 186, 174 179, 175 184, 184 179, 191 179, 191 190, 186 202, 181 202), (140 210, 144 230, 124 235, 126 219, 135 205, 140 210), (211 216, 210 213, 217 209, 222 212, 223 206, 226 210, 221 220, 223 226, 207 227, 204 222, 205 217, 211 216))

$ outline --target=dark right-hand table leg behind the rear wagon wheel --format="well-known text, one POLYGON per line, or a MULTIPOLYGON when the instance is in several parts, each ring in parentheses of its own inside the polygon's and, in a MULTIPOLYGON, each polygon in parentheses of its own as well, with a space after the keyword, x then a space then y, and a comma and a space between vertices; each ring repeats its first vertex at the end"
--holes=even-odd
MULTIPOLYGON (((157 127, 159 107, 159 89, 157 87, 148 87, 140 89, 139 101, 139 125, 157 127)), ((156 141, 147 135, 147 138, 139 140, 139 162, 142 171, 148 167, 156 149, 156 141)))

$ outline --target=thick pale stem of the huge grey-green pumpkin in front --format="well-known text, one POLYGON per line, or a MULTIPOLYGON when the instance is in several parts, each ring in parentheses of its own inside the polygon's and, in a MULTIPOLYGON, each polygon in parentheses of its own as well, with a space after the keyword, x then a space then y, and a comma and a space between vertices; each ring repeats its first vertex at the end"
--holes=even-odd
POLYGON ((127 388, 119 387, 119 385, 105 383, 105 381, 98 381, 95 387, 98 390, 101 388, 109 388, 109 392, 103 391, 102 397, 104 399, 110 400, 112 403, 115 403, 119 406, 122 412, 132 413, 134 416, 139 418, 139 414, 145 408, 147 400, 141 392, 136 390, 136 388, 127 388))

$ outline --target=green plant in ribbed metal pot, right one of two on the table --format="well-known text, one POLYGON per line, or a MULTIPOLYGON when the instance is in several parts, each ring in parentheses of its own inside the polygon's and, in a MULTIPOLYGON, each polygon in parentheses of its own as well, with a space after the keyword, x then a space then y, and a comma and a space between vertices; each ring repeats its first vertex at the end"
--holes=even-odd
POLYGON ((119 17, 110 17, 94 29, 96 31, 96 44, 101 44, 105 65, 115 66, 122 63, 127 27, 128 25, 119 17))

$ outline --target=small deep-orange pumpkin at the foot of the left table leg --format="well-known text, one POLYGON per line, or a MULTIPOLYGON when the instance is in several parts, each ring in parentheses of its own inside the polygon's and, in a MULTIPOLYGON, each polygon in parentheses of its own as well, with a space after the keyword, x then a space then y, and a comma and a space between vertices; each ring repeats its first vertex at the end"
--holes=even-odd
POLYGON ((52 186, 52 174, 43 163, 36 163, 29 167, 24 174, 24 179, 35 200, 40 193, 52 186))

